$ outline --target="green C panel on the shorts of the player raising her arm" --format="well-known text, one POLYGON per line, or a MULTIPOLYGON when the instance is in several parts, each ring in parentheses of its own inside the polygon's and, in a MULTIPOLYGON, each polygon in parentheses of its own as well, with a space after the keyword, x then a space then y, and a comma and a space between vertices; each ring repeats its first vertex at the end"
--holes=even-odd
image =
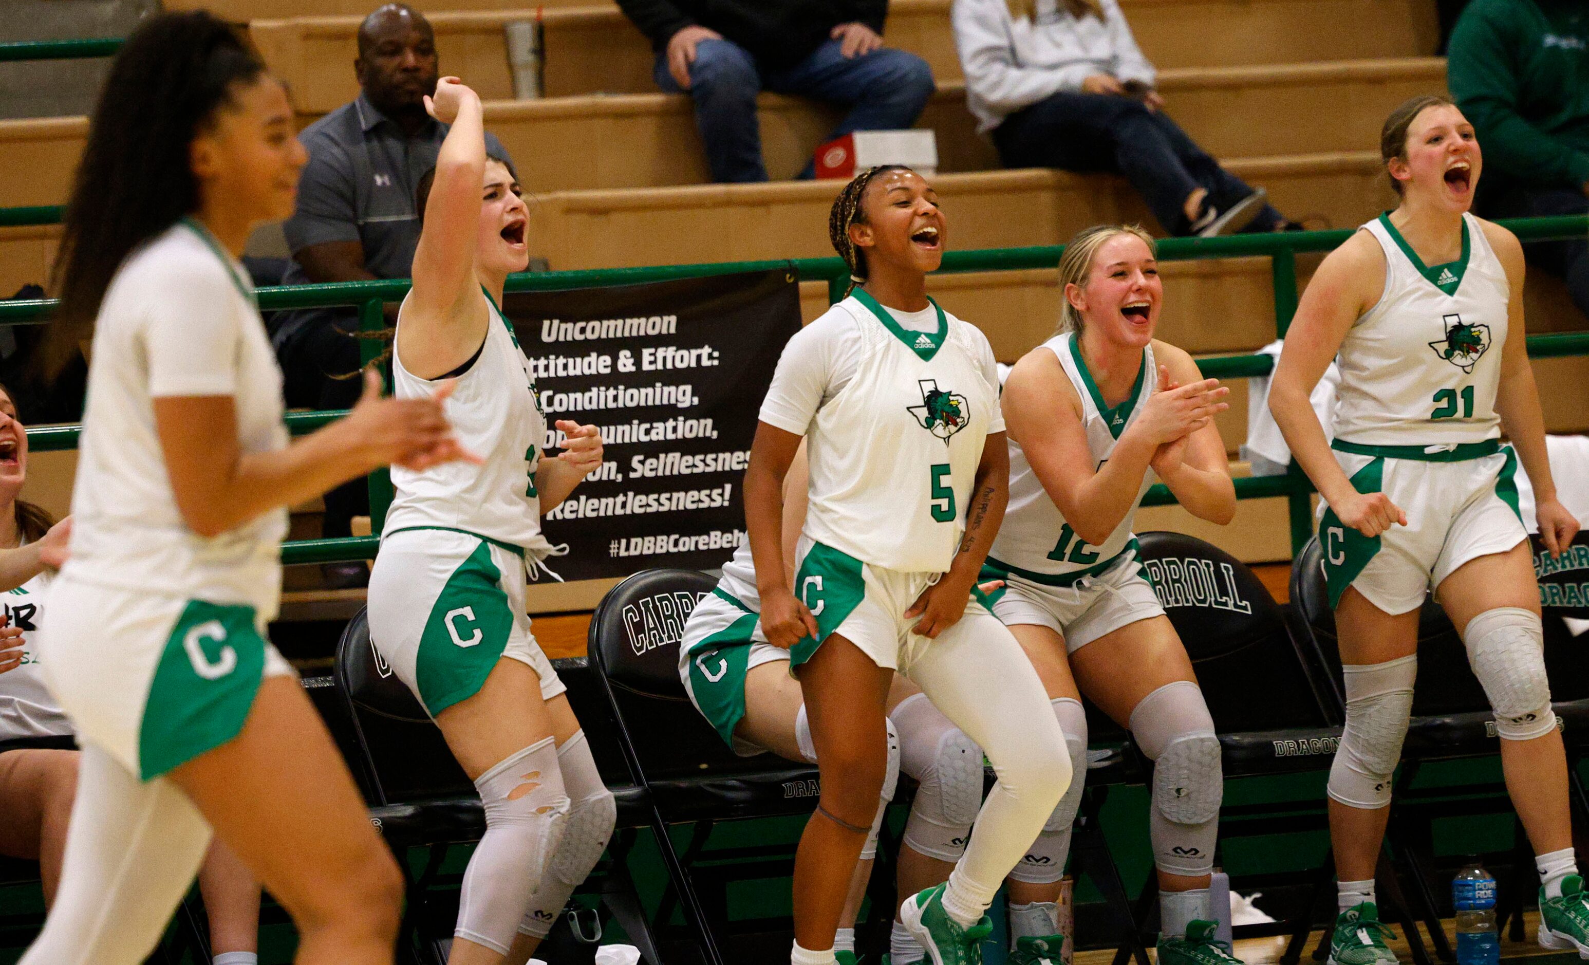
POLYGON ((513 607, 501 587, 502 571, 485 541, 435 596, 419 634, 415 682, 432 717, 485 687, 513 631, 513 607))

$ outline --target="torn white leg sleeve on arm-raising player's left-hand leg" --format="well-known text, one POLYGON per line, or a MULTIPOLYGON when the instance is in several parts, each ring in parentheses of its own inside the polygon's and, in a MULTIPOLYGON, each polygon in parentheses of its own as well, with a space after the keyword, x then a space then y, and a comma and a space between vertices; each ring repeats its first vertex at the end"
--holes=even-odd
POLYGON ((464 871, 454 935, 505 955, 569 816, 556 746, 551 738, 531 744, 481 774, 475 789, 486 833, 464 871))

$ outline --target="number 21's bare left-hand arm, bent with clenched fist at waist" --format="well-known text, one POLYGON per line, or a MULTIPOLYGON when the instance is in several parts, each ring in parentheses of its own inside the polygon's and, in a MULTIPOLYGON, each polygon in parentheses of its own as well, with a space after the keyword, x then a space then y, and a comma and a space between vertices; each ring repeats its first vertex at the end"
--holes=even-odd
POLYGON ((1357 232, 1332 251, 1308 283, 1286 332, 1281 361, 1270 378, 1270 412, 1292 450, 1341 521, 1363 536, 1379 536, 1392 523, 1406 525, 1384 493, 1362 494, 1341 471, 1308 396, 1341 350, 1346 332, 1384 291, 1386 259, 1368 232, 1357 232))

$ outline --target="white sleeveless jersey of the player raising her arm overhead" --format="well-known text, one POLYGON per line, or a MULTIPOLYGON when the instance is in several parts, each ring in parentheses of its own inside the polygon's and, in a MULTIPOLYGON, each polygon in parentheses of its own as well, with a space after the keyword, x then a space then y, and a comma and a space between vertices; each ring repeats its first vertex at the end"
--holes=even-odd
MULTIPOLYGON (((486 300, 491 300, 489 296, 486 300)), ((494 302, 489 310, 480 356, 456 378, 458 385, 443 404, 458 442, 483 456, 485 464, 454 461, 423 472, 392 466, 397 494, 383 533, 461 529, 523 547, 529 558, 539 560, 551 548, 540 534, 540 498, 535 493, 547 417, 540 412, 535 382, 518 337, 494 302)), ((402 312, 397 313, 397 327, 402 327, 402 312)), ((396 353, 392 382, 399 399, 435 393, 435 382, 404 369, 396 353)))

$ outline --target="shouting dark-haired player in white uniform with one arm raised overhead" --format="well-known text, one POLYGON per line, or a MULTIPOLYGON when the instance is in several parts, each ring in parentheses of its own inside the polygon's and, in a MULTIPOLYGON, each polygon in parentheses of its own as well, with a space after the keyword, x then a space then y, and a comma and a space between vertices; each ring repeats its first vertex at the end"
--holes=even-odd
POLYGON ((453 127, 429 189, 421 183, 424 231, 397 316, 392 380, 400 399, 453 380, 447 415, 485 461, 392 467, 370 641, 485 801, 486 835, 464 873, 448 960, 518 965, 601 860, 617 820, 524 614, 528 574, 551 550, 540 514, 601 466, 602 447, 594 426, 559 421, 566 451, 542 458, 547 418, 499 308, 508 273, 529 261, 518 180, 486 157, 480 99, 458 78, 442 78, 426 107, 453 127))

